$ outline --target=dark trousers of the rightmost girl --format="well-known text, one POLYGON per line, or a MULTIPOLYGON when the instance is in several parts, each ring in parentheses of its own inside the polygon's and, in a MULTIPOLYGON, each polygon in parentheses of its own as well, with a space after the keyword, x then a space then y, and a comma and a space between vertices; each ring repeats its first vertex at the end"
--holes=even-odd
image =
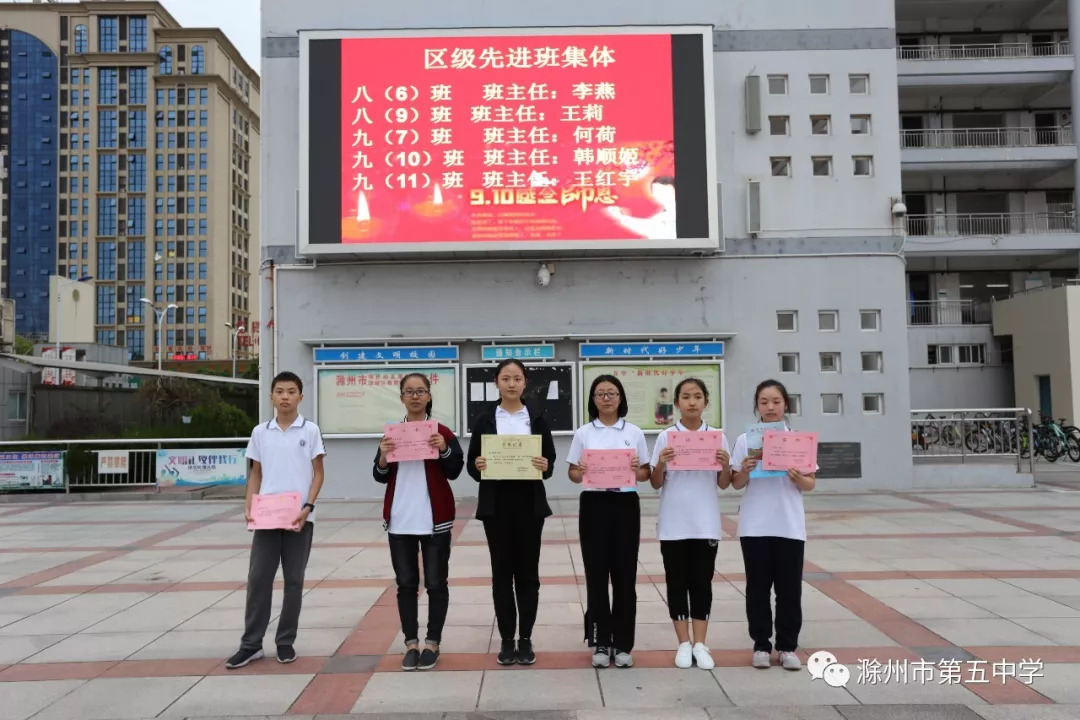
POLYGON ((802 629, 806 543, 788 538, 740 538, 746 567, 746 622, 754 650, 772 651, 772 589, 777 590, 777 650, 794 652, 802 629))

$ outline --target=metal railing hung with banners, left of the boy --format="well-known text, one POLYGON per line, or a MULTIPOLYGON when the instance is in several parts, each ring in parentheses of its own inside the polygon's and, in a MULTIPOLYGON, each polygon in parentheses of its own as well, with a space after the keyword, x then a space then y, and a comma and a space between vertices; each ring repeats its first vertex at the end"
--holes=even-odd
MULTIPOLYGON (((152 439, 11 440, 0 452, 64 450, 65 491, 85 488, 139 488, 157 485, 158 450, 177 447, 243 448, 246 437, 161 437, 152 439), (99 473, 98 452, 129 450, 126 473, 99 473)), ((2 490, 0 490, 2 491, 2 490)))

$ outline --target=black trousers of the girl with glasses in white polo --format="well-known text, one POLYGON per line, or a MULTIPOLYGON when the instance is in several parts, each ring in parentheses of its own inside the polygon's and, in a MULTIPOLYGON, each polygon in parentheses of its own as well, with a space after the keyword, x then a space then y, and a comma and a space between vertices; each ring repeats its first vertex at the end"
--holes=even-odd
POLYGON ((578 535, 588 596, 585 640, 591 647, 630 652, 634 649, 637 620, 637 551, 642 535, 637 493, 582 492, 578 535))

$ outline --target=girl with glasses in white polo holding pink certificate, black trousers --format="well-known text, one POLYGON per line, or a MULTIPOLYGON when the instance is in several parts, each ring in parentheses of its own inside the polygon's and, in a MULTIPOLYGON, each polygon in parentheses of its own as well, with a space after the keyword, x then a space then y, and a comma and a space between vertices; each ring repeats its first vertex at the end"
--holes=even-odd
POLYGON ((585 639, 593 667, 631 667, 637 620, 637 551, 642 507, 637 483, 649 479, 645 433, 626 422, 630 408, 618 378, 602 375, 589 391, 589 419, 573 434, 569 477, 583 484, 578 513, 585 567, 585 639), (608 578, 612 599, 608 600, 608 578))

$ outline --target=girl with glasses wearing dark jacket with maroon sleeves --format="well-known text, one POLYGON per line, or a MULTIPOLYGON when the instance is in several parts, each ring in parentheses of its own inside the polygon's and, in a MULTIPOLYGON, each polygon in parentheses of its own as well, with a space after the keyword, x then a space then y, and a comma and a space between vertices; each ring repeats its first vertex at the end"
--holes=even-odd
MULTIPOLYGON (((401 397, 407 415, 405 422, 431 417, 431 381, 419 372, 401 381, 401 397)), ((389 462, 393 440, 383 437, 375 458, 376 481, 387 484, 382 520, 390 536, 390 559, 397 582, 397 614, 405 634, 404 670, 427 670, 438 661, 446 610, 450 601, 446 579, 450 562, 450 530, 454 528, 454 491, 449 480, 461 474, 464 456, 454 432, 438 424, 429 438, 438 450, 437 460, 389 462), (428 634, 420 652, 417 596, 420 568, 417 549, 423 556, 423 586, 428 590, 428 634)))

